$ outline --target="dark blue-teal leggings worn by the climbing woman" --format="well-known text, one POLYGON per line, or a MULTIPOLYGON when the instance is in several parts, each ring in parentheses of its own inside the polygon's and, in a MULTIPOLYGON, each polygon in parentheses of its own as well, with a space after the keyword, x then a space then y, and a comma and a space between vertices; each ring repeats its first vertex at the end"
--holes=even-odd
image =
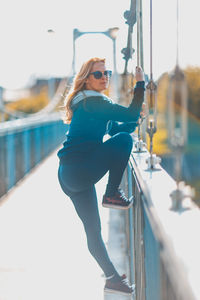
POLYGON ((119 187, 132 149, 132 138, 126 132, 111 137, 79 164, 59 166, 60 185, 68 195, 83 222, 90 253, 106 277, 118 274, 101 236, 97 196, 94 184, 109 171, 106 194, 114 194, 119 187))

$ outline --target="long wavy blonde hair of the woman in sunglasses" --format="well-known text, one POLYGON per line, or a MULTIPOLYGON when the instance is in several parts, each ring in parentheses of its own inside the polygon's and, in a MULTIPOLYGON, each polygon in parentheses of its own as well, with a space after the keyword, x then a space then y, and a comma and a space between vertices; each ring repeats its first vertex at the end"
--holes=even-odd
POLYGON ((64 109, 65 109, 64 122, 66 124, 70 124, 72 120, 72 116, 73 116, 73 111, 71 108, 72 100, 78 92, 85 89, 85 82, 89 73, 91 72, 93 65, 96 62, 105 63, 105 61, 106 61, 105 58, 98 58, 98 57, 91 58, 82 65, 80 71, 75 76, 70 92, 67 94, 64 101, 64 109))

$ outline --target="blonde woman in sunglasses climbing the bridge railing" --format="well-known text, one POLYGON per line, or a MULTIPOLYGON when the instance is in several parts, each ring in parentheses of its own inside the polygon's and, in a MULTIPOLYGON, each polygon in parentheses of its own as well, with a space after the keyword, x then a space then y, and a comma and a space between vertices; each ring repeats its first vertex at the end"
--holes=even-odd
POLYGON ((132 205, 119 185, 132 149, 129 133, 135 130, 141 112, 144 75, 137 67, 134 97, 128 108, 113 104, 103 94, 110 76, 105 59, 100 58, 85 62, 76 75, 66 98, 66 122, 70 126, 67 140, 58 152, 58 177, 83 222, 88 249, 106 276, 105 291, 132 294, 133 287, 125 275, 116 271, 102 240, 94 185, 109 171, 102 205, 120 209, 132 205), (106 133, 111 138, 103 142, 106 133))

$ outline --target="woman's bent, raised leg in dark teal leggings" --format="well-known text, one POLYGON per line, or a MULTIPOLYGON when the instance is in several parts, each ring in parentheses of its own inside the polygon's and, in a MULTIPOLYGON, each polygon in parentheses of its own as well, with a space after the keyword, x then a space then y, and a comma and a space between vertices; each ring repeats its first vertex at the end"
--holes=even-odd
POLYGON ((109 171, 106 194, 114 195, 127 166, 132 145, 132 137, 128 133, 114 135, 90 153, 83 163, 63 166, 69 174, 64 182, 72 191, 83 190, 97 183, 109 171))

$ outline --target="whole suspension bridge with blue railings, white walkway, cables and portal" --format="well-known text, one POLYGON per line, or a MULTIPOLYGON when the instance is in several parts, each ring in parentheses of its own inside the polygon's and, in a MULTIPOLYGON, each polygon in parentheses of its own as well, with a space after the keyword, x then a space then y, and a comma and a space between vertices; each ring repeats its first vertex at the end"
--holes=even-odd
MULTIPOLYGON (((152 1, 150 16, 152 33, 152 1)), ((127 66, 134 53, 133 26, 137 26, 137 65, 143 67, 142 1, 131 0, 124 17, 128 38, 127 47, 122 50, 122 102, 127 100, 131 77, 127 66)), ((88 33, 92 32, 74 30, 74 50, 75 40, 88 33)), ((110 31, 99 33, 110 37, 110 31)), ((115 55, 115 37, 110 38, 115 55)), ((152 55, 150 59, 152 66, 152 55)), ((158 124, 152 69, 147 77, 147 115, 140 119, 138 132, 133 134, 134 147, 122 181, 127 197, 134 196, 134 204, 126 212, 99 205, 102 233, 114 264, 136 284, 130 299, 197 300, 200 211, 193 201, 193 189, 181 180, 181 158, 187 142, 185 78, 177 61, 170 77, 172 101, 168 106, 169 143, 175 153, 172 178, 153 151, 158 124), (181 99, 178 112, 173 106, 177 94, 181 99)), ((119 76, 115 74, 114 93, 117 80, 119 76)), ((64 79, 47 107, 35 114, 4 109, 15 120, 0 123, 0 299, 128 299, 103 293, 101 271, 87 251, 83 228, 72 204, 58 184, 56 153, 68 125, 55 108, 67 90, 64 79)), ((106 176, 97 183, 99 199, 105 180, 106 176)))

